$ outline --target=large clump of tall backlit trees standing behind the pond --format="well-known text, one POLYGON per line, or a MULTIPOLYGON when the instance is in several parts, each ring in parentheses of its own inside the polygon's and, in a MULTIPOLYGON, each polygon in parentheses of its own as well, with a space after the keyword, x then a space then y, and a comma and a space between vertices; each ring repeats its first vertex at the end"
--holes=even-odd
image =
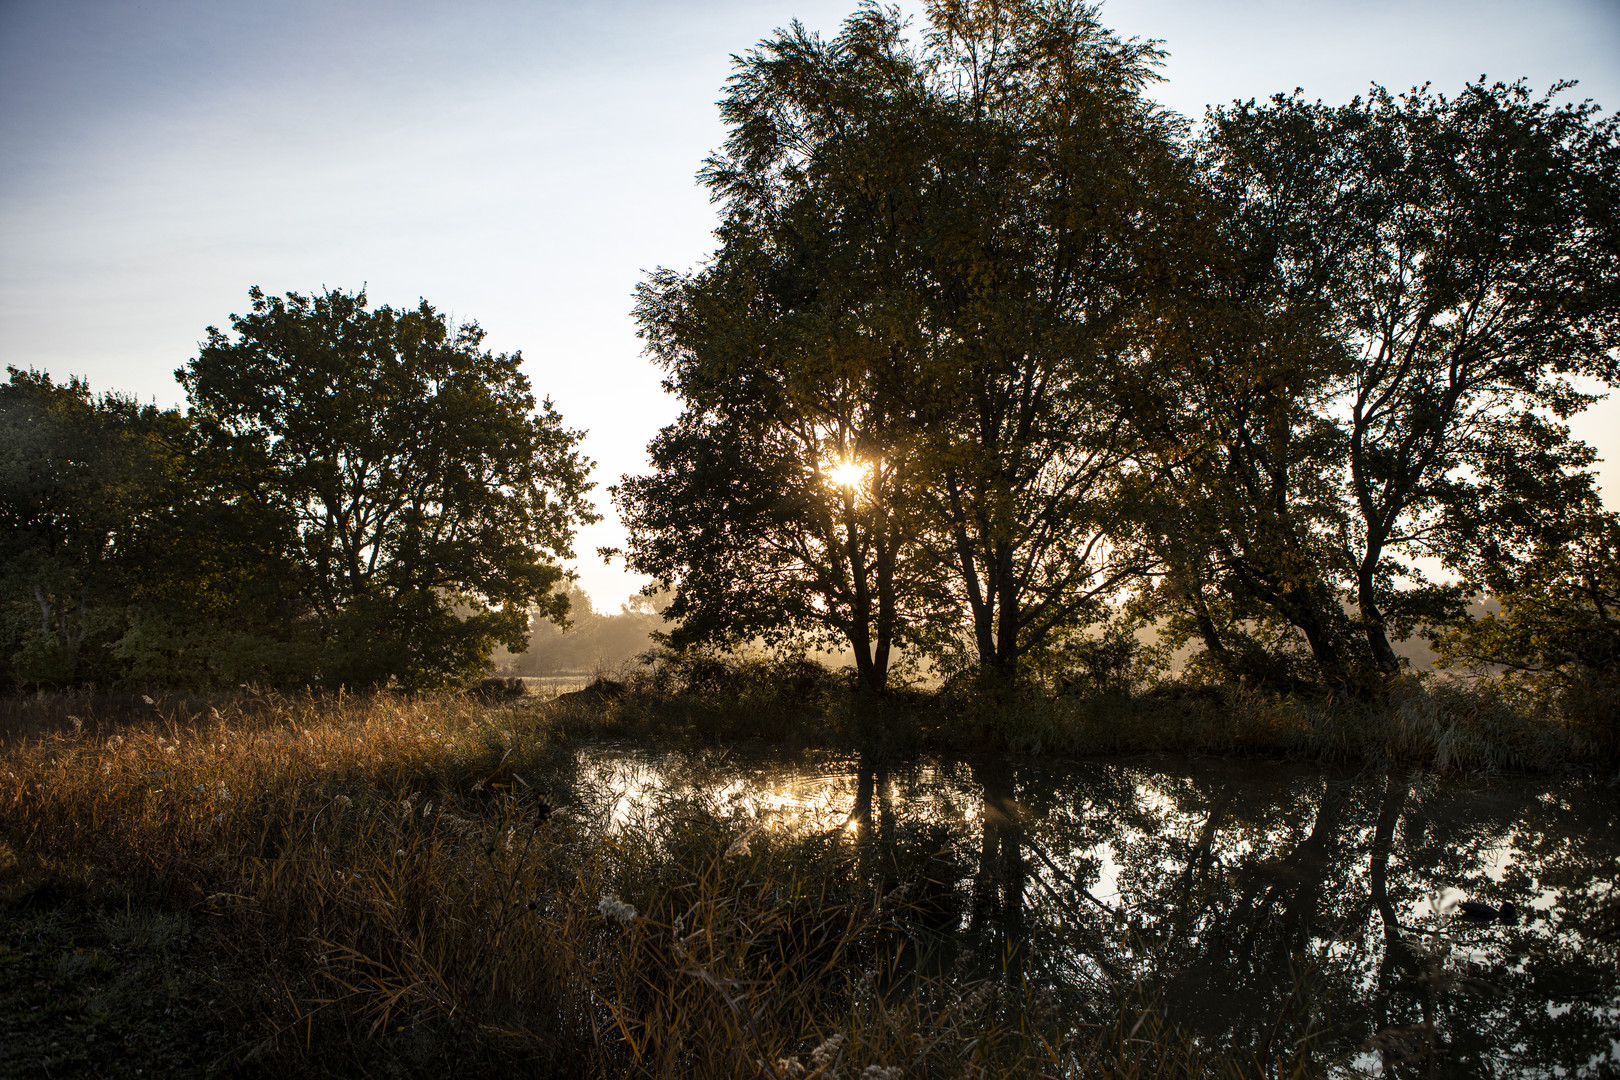
POLYGON ((1081 656, 1123 606, 1221 678, 1375 691, 1466 619, 1503 458, 1537 512, 1589 483, 1614 120, 1482 79, 1192 131, 1085 5, 927 11, 737 58, 716 251, 637 301, 685 413, 617 487, 630 565, 677 633, 842 636, 873 688, 902 643, 1081 656))

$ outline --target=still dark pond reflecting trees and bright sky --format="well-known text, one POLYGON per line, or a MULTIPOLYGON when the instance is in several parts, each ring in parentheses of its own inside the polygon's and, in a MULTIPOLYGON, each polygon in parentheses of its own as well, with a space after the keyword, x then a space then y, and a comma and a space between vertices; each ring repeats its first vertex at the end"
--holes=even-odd
POLYGON ((1343 1077, 1620 1077, 1620 785, 1604 776, 572 753, 559 793, 598 827, 698 790, 930 882, 919 963, 972 942, 1001 978, 1137 984, 1212 1046, 1307 1010, 1343 1077))

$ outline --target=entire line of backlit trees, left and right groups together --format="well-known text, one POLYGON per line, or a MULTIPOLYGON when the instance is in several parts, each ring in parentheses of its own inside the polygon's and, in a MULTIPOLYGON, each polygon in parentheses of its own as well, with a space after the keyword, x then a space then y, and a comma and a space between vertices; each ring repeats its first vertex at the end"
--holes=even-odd
MULTIPOLYGON (((684 411, 611 491, 667 644, 849 649, 878 696, 1191 646, 1372 699, 1422 635, 1612 711, 1620 520, 1563 421, 1620 381, 1617 121, 1481 79, 1194 126, 1094 8, 928 19, 740 57, 718 246, 638 291, 684 411)), ((518 358, 426 303, 253 301, 185 413, 13 371, 8 683, 446 685, 565 615, 590 463, 518 358)), ((535 670, 651 623, 577 615, 535 670)))

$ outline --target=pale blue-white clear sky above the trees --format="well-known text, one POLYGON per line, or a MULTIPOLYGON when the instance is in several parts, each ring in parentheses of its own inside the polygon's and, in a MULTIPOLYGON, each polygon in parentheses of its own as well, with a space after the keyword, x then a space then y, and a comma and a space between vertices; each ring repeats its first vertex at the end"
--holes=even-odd
MULTIPOLYGON (((173 371, 248 288, 366 288, 476 321, 588 431, 606 520, 573 563, 599 610, 640 585, 604 487, 677 403, 632 291, 695 267, 731 57, 854 0, 0 0, 0 361, 180 405, 173 371)), ((920 6, 902 5, 906 11, 920 6)), ((1481 74, 1620 108, 1620 0, 1110 0, 1160 39, 1160 104, 1481 74)), ((1620 502, 1620 402, 1573 423, 1620 502)))

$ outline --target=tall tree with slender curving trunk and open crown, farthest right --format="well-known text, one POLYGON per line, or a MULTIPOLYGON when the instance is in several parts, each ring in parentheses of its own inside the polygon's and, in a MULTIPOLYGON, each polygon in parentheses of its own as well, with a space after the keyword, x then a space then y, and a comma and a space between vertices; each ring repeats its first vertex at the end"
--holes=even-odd
POLYGON ((1199 257, 1226 266, 1162 304, 1186 389, 1160 390, 1144 434, 1196 507, 1181 549, 1239 612, 1298 628, 1328 685, 1375 687, 1400 670, 1392 635, 1461 615, 1464 589, 1413 560, 1460 549, 1492 458, 1552 452, 1537 415, 1589 400, 1570 376, 1620 374, 1617 125, 1555 107, 1563 89, 1278 96, 1205 125, 1228 254, 1199 257))

